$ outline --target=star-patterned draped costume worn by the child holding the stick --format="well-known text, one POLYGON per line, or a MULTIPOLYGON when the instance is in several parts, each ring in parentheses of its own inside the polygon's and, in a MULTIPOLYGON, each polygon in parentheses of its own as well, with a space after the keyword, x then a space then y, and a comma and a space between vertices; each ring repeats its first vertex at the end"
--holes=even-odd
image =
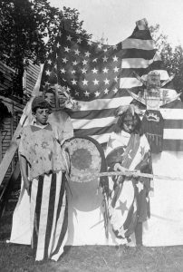
MULTIPOLYGON (((126 131, 111 133, 107 148, 110 170, 116 163, 126 169, 151 172, 149 143, 145 135, 126 131)), ((109 215, 117 238, 130 238, 138 222, 149 218, 149 179, 120 177, 111 193, 109 215)))

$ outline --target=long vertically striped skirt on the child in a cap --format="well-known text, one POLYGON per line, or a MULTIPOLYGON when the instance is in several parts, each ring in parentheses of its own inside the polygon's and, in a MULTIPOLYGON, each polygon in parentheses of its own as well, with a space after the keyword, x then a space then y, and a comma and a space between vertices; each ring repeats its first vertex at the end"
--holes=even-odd
POLYGON ((34 179, 31 187, 31 234, 35 260, 63 254, 68 232, 66 178, 62 171, 34 179))

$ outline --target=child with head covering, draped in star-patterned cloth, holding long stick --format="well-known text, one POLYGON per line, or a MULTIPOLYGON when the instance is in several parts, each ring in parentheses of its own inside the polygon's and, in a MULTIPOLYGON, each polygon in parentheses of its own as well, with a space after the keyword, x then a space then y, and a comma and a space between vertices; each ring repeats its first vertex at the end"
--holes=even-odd
POLYGON ((106 150, 109 171, 124 171, 112 179, 109 218, 111 228, 122 243, 135 233, 136 245, 142 244, 142 224, 149 218, 150 180, 140 176, 125 176, 126 170, 151 173, 149 143, 140 133, 140 117, 134 105, 117 110, 118 121, 106 150))

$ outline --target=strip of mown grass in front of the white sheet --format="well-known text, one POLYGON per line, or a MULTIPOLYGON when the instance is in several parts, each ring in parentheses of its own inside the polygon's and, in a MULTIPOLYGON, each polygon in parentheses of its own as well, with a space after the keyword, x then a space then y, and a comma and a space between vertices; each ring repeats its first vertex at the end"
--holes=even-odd
POLYGON ((27 259, 29 246, 7 244, 11 213, 0 224, 1 272, 182 272, 183 246, 124 248, 112 246, 65 247, 58 262, 27 259))

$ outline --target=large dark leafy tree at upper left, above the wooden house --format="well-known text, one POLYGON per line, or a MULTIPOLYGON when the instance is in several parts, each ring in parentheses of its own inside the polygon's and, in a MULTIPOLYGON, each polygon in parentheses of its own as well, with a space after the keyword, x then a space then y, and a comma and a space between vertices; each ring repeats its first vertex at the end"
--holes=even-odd
POLYGON ((73 32, 90 37, 82 29, 76 9, 59 10, 48 0, 3 0, 0 3, 0 60, 15 70, 13 86, 5 94, 24 95, 24 67, 29 60, 44 63, 63 18, 71 20, 73 32), (46 44, 46 40, 49 42, 46 44))

